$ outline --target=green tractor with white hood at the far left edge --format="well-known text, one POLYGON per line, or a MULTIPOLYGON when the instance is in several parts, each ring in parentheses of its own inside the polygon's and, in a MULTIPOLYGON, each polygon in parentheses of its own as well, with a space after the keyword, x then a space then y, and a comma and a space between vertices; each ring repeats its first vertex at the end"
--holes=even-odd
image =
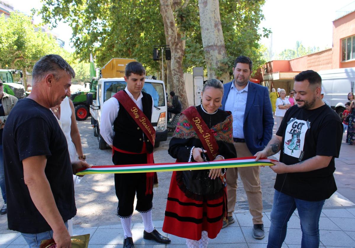
POLYGON ((20 74, 23 77, 22 70, 0 69, 0 79, 4 83, 4 92, 16 96, 18 99, 26 97, 22 83, 15 82, 12 74, 20 74))

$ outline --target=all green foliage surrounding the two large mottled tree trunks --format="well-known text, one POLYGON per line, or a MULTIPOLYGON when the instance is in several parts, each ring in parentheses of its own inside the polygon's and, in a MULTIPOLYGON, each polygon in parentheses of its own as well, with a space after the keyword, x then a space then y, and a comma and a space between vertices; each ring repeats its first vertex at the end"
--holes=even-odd
MULTIPOLYGON (((239 55, 251 57, 256 69, 264 60, 260 50, 261 7, 265 0, 220 0, 220 16, 228 60, 233 67, 239 55)), ((39 11, 47 23, 54 26, 64 20, 73 29, 72 42, 81 60, 96 56, 95 63, 103 66, 112 57, 136 58, 148 73, 160 71, 160 64, 152 60, 154 45, 165 45, 164 25, 159 15, 159 0, 43 0, 39 11)), ((184 71, 204 66, 198 0, 190 0, 185 8, 175 13, 176 24, 185 33, 184 71)), ((230 72, 231 73, 231 72, 230 72)))

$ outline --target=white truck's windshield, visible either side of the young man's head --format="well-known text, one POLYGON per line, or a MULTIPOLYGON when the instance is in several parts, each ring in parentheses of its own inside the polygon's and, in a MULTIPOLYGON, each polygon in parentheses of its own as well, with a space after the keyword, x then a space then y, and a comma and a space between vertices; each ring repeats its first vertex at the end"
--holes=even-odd
MULTIPOLYGON (((125 81, 105 81, 103 92, 104 102, 110 99, 117 92, 119 92, 120 90, 124 90, 125 88, 125 81)), ((142 91, 148 93, 153 97, 154 107, 165 106, 163 84, 145 82, 142 91)))

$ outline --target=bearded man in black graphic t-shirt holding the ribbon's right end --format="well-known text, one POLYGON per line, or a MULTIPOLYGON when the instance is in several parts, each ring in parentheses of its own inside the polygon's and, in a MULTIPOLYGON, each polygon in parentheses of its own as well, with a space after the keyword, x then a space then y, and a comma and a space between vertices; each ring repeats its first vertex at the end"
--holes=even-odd
POLYGON ((319 219, 325 199, 336 190, 334 157, 339 156, 343 126, 339 116, 321 98, 322 79, 314 71, 296 75, 297 106, 286 112, 279 130, 261 157, 280 152, 271 212, 268 248, 281 247, 287 222, 297 208, 302 226, 302 247, 319 247, 319 219))

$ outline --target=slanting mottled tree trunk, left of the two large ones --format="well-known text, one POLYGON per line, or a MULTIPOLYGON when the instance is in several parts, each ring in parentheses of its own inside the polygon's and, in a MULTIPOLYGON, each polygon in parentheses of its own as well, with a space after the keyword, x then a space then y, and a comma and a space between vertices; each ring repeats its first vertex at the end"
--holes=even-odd
MULTIPOLYGON (((187 1, 185 1, 186 4, 187 1)), ((185 41, 176 27, 173 9, 181 5, 181 0, 160 0, 160 14, 163 17, 164 30, 171 51, 171 79, 174 82, 174 91, 179 96, 183 109, 189 107, 187 101, 182 59, 184 58, 185 41)), ((173 90, 170 88, 170 90, 173 90)))

